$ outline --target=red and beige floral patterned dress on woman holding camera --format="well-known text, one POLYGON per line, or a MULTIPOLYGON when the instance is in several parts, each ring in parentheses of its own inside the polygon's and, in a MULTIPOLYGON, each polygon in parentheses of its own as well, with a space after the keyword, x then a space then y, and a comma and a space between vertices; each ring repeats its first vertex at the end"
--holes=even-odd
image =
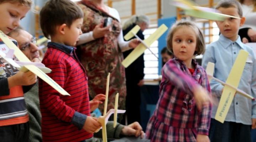
MULTIPOLYGON (((110 86, 108 94, 108 108, 114 108, 115 94, 119 93, 118 109, 125 109, 126 79, 125 70, 121 65, 123 54, 118 47, 118 35, 121 31, 119 21, 108 15, 91 1, 82 0, 78 3, 84 12, 84 21, 81 27, 83 33, 92 31, 97 24, 111 17, 112 32, 105 37, 97 38, 79 47, 79 56, 82 65, 87 71, 89 80, 89 94, 92 98, 97 94, 105 94, 108 72, 110 72, 110 86)), ((103 112, 104 105, 99 109, 103 112)))

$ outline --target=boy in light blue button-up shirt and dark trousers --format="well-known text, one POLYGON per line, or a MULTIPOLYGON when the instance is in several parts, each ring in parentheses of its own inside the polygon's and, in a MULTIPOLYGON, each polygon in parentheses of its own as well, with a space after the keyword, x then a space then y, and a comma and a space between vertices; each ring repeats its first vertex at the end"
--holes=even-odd
MULTIPOLYGON (((256 61, 254 51, 243 44, 238 35, 239 27, 245 22, 242 17, 241 5, 236 0, 220 1, 216 7, 220 12, 238 18, 227 18, 225 21, 216 21, 220 29, 220 37, 216 42, 211 43, 203 56, 202 65, 206 68, 208 62, 215 63, 214 77, 226 81, 230 70, 235 62, 239 50, 249 52, 244 71, 238 88, 246 93, 255 96, 256 91, 256 61)), ((214 97, 220 100, 223 86, 211 81, 210 87, 214 97)), ((215 117, 218 106, 213 107, 212 118, 215 117)), ((224 123, 212 119, 210 129, 211 142, 250 142, 250 129, 256 126, 256 105, 241 95, 235 95, 224 123)))

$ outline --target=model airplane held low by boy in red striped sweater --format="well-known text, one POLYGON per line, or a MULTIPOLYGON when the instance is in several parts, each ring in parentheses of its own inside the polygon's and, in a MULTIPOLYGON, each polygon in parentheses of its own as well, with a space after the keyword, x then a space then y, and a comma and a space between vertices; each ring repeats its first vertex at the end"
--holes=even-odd
MULTIPOLYGON (((116 94, 116 99, 115 99, 115 105, 114 105, 114 109, 110 109, 107 113, 107 103, 108 103, 108 88, 109 88, 109 80, 110 80, 110 73, 108 73, 107 76, 107 84, 106 84, 106 99, 105 99, 105 104, 104 104, 104 112, 103 112, 103 116, 100 116, 98 118, 98 122, 100 122, 101 126, 102 126, 102 140, 103 142, 107 142, 107 129, 106 129, 106 124, 108 122, 108 119, 110 118, 110 116, 112 114, 114 114, 114 126, 116 127, 117 124, 117 114, 118 113, 125 113, 126 110, 119 110, 118 108, 118 93, 116 94)), ((96 130, 95 132, 98 132, 100 129, 96 130)))

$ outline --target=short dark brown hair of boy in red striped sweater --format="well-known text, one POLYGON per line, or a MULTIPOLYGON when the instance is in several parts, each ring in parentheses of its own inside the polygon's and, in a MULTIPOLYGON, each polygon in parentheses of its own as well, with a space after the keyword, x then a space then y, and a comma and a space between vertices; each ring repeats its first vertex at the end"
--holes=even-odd
POLYGON ((55 34, 56 26, 66 24, 68 27, 84 13, 71 0, 49 0, 40 11, 40 26, 46 38, 55 34))

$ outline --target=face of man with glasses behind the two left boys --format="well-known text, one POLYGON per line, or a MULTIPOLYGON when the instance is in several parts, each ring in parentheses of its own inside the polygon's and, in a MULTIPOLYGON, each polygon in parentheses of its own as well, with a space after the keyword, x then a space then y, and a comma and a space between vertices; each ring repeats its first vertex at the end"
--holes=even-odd
POLYGON ((38 47, 30 33, 20 30, 19 34, 12 38, 17 40, 20 50, 28 57, 28 59, 33 60, 34 58, 39 58, 38 47))

